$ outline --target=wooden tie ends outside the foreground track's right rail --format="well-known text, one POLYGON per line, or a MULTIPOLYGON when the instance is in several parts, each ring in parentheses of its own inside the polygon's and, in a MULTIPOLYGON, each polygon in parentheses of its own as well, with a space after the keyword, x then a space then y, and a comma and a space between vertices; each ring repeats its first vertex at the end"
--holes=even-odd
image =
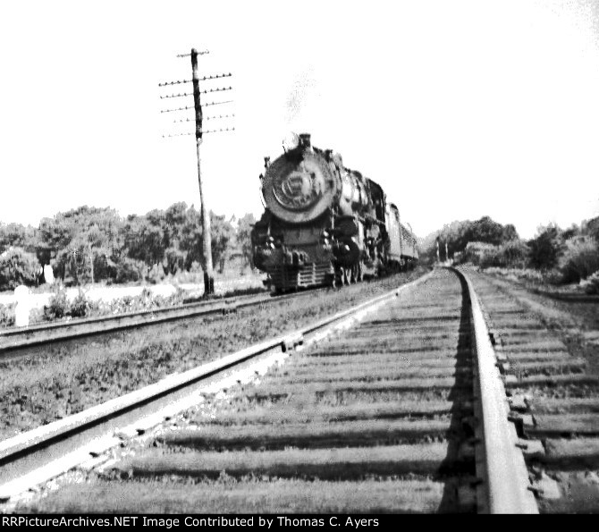
MULTIPOLYGON (((519 296, 522 289, 485 274, 468 275, 485 309, 540 511, 596 513, 596 369, 577 352, 567 326, 546 328, 542 302, 531 305, 519 296)), ((590 351, 599 354, 596 347, 590 351)))

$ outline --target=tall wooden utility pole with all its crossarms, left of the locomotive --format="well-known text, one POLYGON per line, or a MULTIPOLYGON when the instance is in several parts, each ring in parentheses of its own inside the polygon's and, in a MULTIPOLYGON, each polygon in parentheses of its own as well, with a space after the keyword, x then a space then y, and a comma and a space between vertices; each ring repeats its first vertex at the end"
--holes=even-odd
MULTIPOLYGON (((198 76, 198 55, 205 55, 208 53, 209 52, 207 50, 205 50, 203 52, 198 52, 198 50, 196 50, 195 48, 191 48, 190 54, 177 55, 177 57, 187 57, 188 55, 191 57, 191 80, 177 80, 177 81, 166 81, 165 83, 158 83, 158 87, 167 87, 167 86, 172 86, 172 85, 180 85, 180 84, 184 84, 184 83, 191 83, 193 86, 192 93, 183 92, 183 93, 179 93, 179 94, 171 94, 171 95, 165 95, 165 96, 160 97, 160 99, 164 99, 164 98, 193 96, 193 104, 194 104, 193 107, 181 106, 181 107, 177 107, 177 108, 173 108, 173 109, 164 109, 164 110, 161 110, 160 113, 176 113, 176 112, 180 112, 180 111, 186 111, 188 109, 195 110, 195 118, 194 119, 190 119, 190 118, 184 118, 181 120, 175 119, 175 120, 173 120, 173 122, 179 122, 179 123, 195 122, 196 123, 196 131, 195 131, 196 155, 198 156, 198 186, 199 186, 200 209, 201 209, 201 215, 202 215, 202 244, 203 244, 202 247, 204 250, 204 253, 203 253, 203 256, 204 256, 204 295, 206 295, 206 296, 211 295, 215 292, 215 276, 214 276, 214 266, 213 266, 213 262, 212 262, 212 238, 211 238, 211 231, 210 231, 210 209, 207 207, 206 189, 204 187, 204 182, 202 181, 200 146, 202 145, 202 137, 204 134, 219 133, 219 132, 224 132, 224 131, 235 131, 234 127, 225 127, 225 128, 220 128, 220 129, 213 128, 212 130, 204 130, 203 129, 204 121, 227 119, 227 118, 232 118, 235 116, 234 114, 219 114, 217 116, 204 117, 204 115, 202 113, 200 94, 210 94, 210 96, 215 96, 216 93, 220 93, 222 91, 232 89, 232 87, 219 87, 219 88, 205 89, 205 90, 199 89, 200 81, 201 82, 206 82, 206 81, 210 82, 212 80, 219 80, 221 78, 230 78, 232 76, 232 73, 229 72, 229 73, 223 73, 223 74, 204 76, 204 77, 200 78, 198 76)), ((232 103, 232 100, 212 101, 212 102, 207 102, 206 104, 204 104, 204 106, 221 106, 224 104, 231 104, 231 103, 232 103)), ((182 132, 182 133, 163 135, 163 138, 181 137, 181 136, 193 135, 193 134, 194 134, 193 132, 182 132)), ((198 246, 199 246, 199 242, 198 242, 198 246)))

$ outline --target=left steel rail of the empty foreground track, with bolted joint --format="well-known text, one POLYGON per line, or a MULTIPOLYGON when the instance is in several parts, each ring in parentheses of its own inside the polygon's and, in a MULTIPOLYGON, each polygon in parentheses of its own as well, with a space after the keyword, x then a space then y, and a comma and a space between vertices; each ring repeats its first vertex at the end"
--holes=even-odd
POLYGON ((120 440, 110 435, 111 430, 130 426, 133 431, 141 433, 150 426, 162 423, 162 412, 169 408, 169 411, 173 410, 173 405, 179 408, 176 405, 181 404, 180 410, 190 408, 190 398, 197 401, 197 393, 202 386, 206 387, 211 377, 220 376, 249 361, 257 362, 263 356, 291 350, 301 343, 317 342, 333 330, 349 327, 367 312, 399 296, 401 291, 425 282, 432 274, 429 272, 415 281, 290 334, 261 342, 181 374, 167 376, 136 392, 0 442, 0 502, 6 502, 11 496, 89 460, 90 453, 97 455, 119 444, 120 440), (137 423, 141 419, 147 421, 140 428, 137 423))

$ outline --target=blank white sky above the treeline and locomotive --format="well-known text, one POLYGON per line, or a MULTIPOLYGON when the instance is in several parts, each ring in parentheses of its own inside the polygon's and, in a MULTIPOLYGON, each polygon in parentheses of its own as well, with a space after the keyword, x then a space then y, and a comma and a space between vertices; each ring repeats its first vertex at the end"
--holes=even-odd
POLYGON ((599 215, 599 2, 21 1, 0 4, 0 222, 80 205, 259 216, 290 131, 379 182, 418 236, 490 215, 523 238, 599 215))

